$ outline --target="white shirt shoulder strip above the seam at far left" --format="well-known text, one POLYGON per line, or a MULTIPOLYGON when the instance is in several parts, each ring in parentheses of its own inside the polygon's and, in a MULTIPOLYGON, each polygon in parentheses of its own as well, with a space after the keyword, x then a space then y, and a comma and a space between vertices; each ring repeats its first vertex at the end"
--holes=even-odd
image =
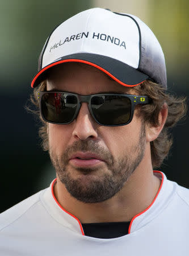
POLYGON ((5 210, 0 214, 0 232, 2 229, 6 228, 12 224, 12 222, 18 220, 26 213, 33 205, 40 201, 40 195, 45 189, 35 193, 34 195, 28 197, 27 199, 21 201, 20 203, 14 205, 13 207, 5 210))

